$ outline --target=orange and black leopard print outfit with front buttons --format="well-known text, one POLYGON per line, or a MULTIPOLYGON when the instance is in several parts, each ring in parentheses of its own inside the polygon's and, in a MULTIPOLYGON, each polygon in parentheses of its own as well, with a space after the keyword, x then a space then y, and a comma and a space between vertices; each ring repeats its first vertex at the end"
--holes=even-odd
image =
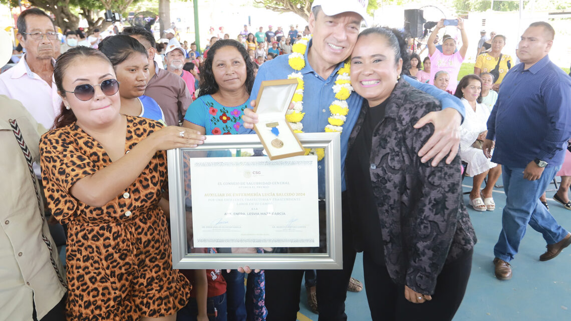
MULTIPOLYGON (((161 127, 127 116, 125 153, 161 127)), ((69 191, 111 163, 103 147, 75 123, 44 134, 39 145, 47 202, 68 229, 67 320, 139 320, 184 307, 190 284, 172 269, 167 218, 159 207, 166 153, 156 153, 121 194, 93 207, 69 191)))

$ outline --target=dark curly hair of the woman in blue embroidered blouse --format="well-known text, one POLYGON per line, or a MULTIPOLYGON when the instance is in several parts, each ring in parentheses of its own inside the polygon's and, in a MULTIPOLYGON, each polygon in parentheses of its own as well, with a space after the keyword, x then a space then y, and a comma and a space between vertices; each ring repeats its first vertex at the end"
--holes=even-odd
POLYGON ((212 60, 214 60, 216 51, 226 46, 235 47, 236 50, 242 54, 242 58, 244 59, 244 62, 246 62, 246 82, 244 83, 244 86, 246 86, 248 94, 252 92, 252 87, 254 87, 254 78, 256 77, 254 74, 254 66, 252 65, 252 61, 250 61, 248 51, 246 51, 246 48, 242 43, 239 43, 234 39, 221 39, 216 41, 214 45, 208 49, 206 59, 204 59, 204 63, 200 66, 200 92, 198 97, 218 93, 218 83, 216 83, 214 74, 212 73, 212 60))

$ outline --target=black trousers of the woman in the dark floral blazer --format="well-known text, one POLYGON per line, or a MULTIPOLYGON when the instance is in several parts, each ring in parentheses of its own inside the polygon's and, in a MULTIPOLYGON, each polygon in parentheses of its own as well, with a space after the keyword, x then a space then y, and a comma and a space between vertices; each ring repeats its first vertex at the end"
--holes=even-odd
POLYGON ((365 290, 373 321, 446 321, 452 320, 468 285, 472 270, 473 250, 444 265, 440 272, 432 300, 411 303, 404 296, 404 284, 396 284, 384 264, 375 262, 372 256, 363 252, 365 290))

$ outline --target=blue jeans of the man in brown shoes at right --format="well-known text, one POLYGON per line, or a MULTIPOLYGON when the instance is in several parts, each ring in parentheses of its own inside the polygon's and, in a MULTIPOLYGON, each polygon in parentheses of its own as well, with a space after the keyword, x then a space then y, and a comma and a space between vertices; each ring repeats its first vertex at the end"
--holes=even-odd
POLYGON ((502 230, 494 246, 496 258, 505 262, 513 260, 528 224, 543 235, 547 244, 557 243, 568 234, 539 200, 560 168, 546 167, 540 179, 527 180, 524 178, 525 168, 502 166, 506 204, 502 213, 502 230))

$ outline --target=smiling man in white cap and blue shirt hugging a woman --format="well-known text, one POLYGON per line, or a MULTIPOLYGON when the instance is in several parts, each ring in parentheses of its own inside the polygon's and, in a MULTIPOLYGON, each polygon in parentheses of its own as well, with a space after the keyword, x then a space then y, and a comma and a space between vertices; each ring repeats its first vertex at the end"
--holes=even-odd
MULTIPOLYGON (((300 122, 295 123, 297 129, 303 129, 305 133, 318 133, 325 131, 327 126, 332 126, 328 125, 328 119, 331 117, 329 105, 337 99, 333 85, 337 80, 337 72, 345 67, 344 61, 351 55, 361 22, 368 18, 367 5, 367 0, 315 0, 312 4, 312 13, 309 15, 309 29, 313 38, 308 41, 305 53, 297 54, 297 58, 303 58, 304 65, 299 66, 289 62, 289 57, 295 57, 296 53, 280 55, 264 63, 258 71, 252 89, 252 101, 255 101, 262 81, 284 79, 288 78, 288 75, 299 73, 304 81, 303 104, 295 106, 294 109, 299 113, 303 110, 305 115, 300 122)), ((423 84, 411 78, 405 77, 405 79, 421 90, 435 90, 433 86, 423 87, 423 84)), ((428 114, 416 124, 417 128, 429 122, 435 126, 435 134, 421 149, 421 160, 427 162, 436 156, 432 162, 433 166, 436 166, 447 154, 449 154, 447 162, 456 156, 464 107, 455 97, 443 91, 436 90, 437 94, 433 91, 430 93, 440 99, 444 107, 452 107, 428 114)), ((321 321, 347 320, 344 311, 345 298, 356 255, 356 248, 352 242, 351 218, 345 198, 344 163, 349 134, 359 115, 363 98, 353 93, 344 102, 347 103, 348 113, 344 124, 336 126, 337 131, 341 131, 343 270, 317 270, 317 308, 321 321), (341 127, 342 130, 337 127, 341 127)), ((240 134, 249 133, 247 129, 251 129, 253 123, 258 122, 258 116, 247 109, 244 111, 243 120, 246 129, 241 129, 240 134)), ((318 168, 319 176, 323 178, 324 166, 321 161, 318 168)), ((320 198, 323 198, 324 194, 324 184, 320 184, 320 198)), ((250 271, 250 268, 244 267, 244 270, 250 271)), ((266 270, 265 302, 268 321, 296 320, 302 277, 303 270, 266 270)))

